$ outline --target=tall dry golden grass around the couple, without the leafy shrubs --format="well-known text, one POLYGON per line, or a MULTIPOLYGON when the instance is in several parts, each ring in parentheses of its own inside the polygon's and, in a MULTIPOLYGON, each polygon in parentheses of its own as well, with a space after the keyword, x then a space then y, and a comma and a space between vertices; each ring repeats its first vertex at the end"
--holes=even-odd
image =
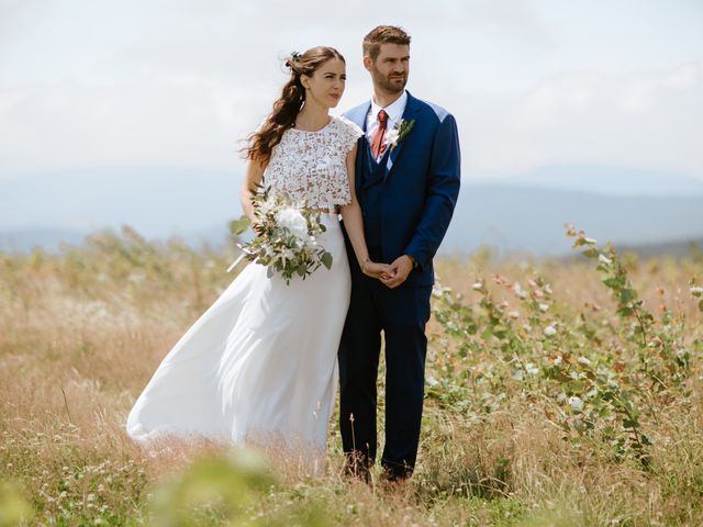
MULTIPOLYGON (((131 229, 99 233, 59 255, 0 255, 0 473, 12 484, 0 490, 0 508, 24 500, 29 524, 71 526, 703 524, 698 356, 689 400, 646 423, 650 469, 615 460, 595 439, 565 439, 539 392, 521 384, 496 385, 488 411, 477 410, 477 394, 454 404, 428 396, 417 470, 403 485, 343 475, 336 416, 328 463, 316 476, 280 457, 269 469, 230 466, 226 452, 208 445, 143 451, 124 433, 126 414, 164 355, 232 280, 223 272, 231 256, 148 243, 131 229), (215 490, 224 497, 182 515, 165 512, 209 481, 222 482, 225 490, 215 490), (250 492, 227 497, 226 487, 249 481, 250 492)), ((628 257, 626 265, 652 313, 679 313, 691 338, 701 335, 689 294, 689 280, 703 271, 700 259, 628 257)), ((496 261, 478 251, 437 267, 467 305, 480 301, 478 279, 526 283, 538 273, 548 277, 563 319, 613 307, 601 277, 581 260, 496 261)), ((500 287, 493 294, 515 302, 500 287)), ((451 381, 445 367, 459 363, 454 345, 435 319, 428 334, 427 374, 451 381)), ((594 341, 592 351, 606 347, 594 341)))

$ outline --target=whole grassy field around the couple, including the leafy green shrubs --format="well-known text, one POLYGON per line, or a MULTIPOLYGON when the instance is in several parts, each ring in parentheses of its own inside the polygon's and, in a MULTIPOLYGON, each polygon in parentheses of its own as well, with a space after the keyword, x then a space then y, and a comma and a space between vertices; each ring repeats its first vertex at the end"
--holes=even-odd
POLYGON ((317 476, 127 439, 131 405, 232 280, 233 251, 125 228, 0 255, 0 527, 703 525, 703 258, 638 260, 570 234, 588 258, 438 262, 419 464, 392 487, 342 475, 336 416, 317 476))

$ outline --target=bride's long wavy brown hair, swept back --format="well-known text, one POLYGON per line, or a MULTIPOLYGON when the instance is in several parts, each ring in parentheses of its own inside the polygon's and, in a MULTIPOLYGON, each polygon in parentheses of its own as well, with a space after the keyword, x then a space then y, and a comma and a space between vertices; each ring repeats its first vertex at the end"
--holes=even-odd
POLYGON ((283 132, 295 124, 295 117, 305 102, 305 89, 300 81, 302 75, 311 77, 320 66, 327 60, 344 57, 334 47, 317 46, 308 49, 302 55, 293 53, 286 60, 290 69, 290 79, 283 86, 281 97, 274 103, 274 111, 264 124, 248 137, 244 148, 247 159, 266 165, 271 157, 274 147, 281 142, 283 132))

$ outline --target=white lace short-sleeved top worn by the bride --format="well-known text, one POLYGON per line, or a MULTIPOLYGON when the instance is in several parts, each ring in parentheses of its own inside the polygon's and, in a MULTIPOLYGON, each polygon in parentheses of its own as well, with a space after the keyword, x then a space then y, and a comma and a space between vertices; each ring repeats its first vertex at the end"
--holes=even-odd
POLYGON ((290 128, 274 147, 264 184, 299 206, 325 209, 352 201, 346 157, 364 135, 352 121, 332 117, 317 132, 290 128))

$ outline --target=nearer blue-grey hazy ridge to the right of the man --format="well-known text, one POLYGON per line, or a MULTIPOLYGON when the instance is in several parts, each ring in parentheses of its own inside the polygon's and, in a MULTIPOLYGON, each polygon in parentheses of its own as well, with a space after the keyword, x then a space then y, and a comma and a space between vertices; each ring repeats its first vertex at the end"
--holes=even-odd
POLYGON ((561 190, 467 184, 443 249, 489 245, 533 254, 568 251, 565 223, 599 242, 660 244, 703 237, 703 195, 607 197, 561 190))

